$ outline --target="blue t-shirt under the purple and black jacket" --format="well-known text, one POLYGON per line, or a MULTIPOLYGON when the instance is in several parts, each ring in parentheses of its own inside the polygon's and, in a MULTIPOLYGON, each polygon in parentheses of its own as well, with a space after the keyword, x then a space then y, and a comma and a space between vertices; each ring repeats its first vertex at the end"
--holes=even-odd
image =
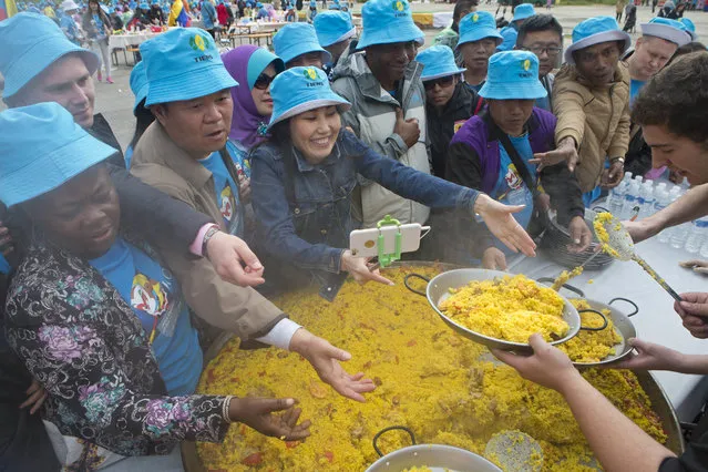
MULTIPOLYGON (((529 164, 529 161, 533 158, 533 151, 531 150, 531 143, 529 142, 529 133, 523 136, 509 136, 512 145, 516 148, 516 152, 526 164, 529 174, 536 182, 536 170, 529 164)), ((499 143, 499 177, 492 196, 494 199, 506 205, 526 205, 525 208, 519 213, 514 213, 514 218, 524 228, 529 227, 531 216, 533 214, 533 192, 524 184, 521 174, 516 171, 516 166, 512 163, 506 148, 499 143)), ((497 247, 505 248, 501 242, 496 242, 497 247)))

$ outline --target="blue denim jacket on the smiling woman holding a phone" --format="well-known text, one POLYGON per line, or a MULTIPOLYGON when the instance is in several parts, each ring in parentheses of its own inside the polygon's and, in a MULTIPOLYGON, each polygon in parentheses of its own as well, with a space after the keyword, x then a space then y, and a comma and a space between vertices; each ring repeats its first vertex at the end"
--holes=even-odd
POLYGON ((348 131, 339 134, 332 153, 317 165, 295 148, 283 153, 267 143, 252 151, 252 193, 261 248, 300 268, 338 274, 349 233, 361 225, 351 212, 357 173, 404 198, 433 208, 464 209, 470 217, 479 195, 382 157, 348 131), (285 163, 293 157, 295 163, 285 163), (291 191, 285 184, 290 173, 291 191))

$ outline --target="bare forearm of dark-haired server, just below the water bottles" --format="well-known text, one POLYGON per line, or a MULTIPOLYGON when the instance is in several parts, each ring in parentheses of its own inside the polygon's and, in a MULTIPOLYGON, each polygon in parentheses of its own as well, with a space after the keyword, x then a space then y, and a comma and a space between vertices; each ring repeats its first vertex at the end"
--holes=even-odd
POLYGON ((639 243, 663 229, 698 219, 706 214, 708 214, 708 184, 702 184, 691 188, 686 195, 648 218, 625 222, 624 225, 634 242, 639 243))

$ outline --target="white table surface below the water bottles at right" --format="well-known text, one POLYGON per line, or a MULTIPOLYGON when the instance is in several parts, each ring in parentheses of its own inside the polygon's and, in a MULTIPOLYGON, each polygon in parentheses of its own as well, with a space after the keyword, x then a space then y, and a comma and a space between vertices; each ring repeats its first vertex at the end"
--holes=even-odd
MULTIPOLYGON (((642 256, 678 294, 708 291, 708 277, 679 267, 678 263, 696 258, 684 249, 674 249, 655 237, 636 246, 642 256)), ((510 258, 510 265, 513 263, 510 258)), ((512 268, 515 274, 532 278, 555 277, 563 268, 543 254, 526 258, 512 268)), ((588 298, 607 302, 615 297, 632 299, 639 314, 632 317, 637 337, 685 353, 708 353, 708 340, 694 338, 674 311, 674 299, 636 263, 615 260, 603 270, 588 270, 568 284, 582 289, 588 298), (587 280, 593 279, 593 284, 587 280)), ((624 309, 626 304, 617 302, 624 309)), ((627 308, 628 309, 628 308, 627 308)), ((704 376, 676 372, 653 372, 681 421, 692 421, 708 397, 708 380, 704 376)))

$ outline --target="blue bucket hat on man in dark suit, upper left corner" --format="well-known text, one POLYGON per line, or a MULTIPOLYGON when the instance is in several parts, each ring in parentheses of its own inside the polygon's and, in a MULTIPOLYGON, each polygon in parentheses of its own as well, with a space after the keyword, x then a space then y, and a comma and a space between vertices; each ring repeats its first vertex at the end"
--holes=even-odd
POLYGON ((6 99, 70 53, 81 55, 90 74, 99 69, 99 57, 66 39, 59 25, 43 14, 18 13, 0 22, 0 73, 6 99))

